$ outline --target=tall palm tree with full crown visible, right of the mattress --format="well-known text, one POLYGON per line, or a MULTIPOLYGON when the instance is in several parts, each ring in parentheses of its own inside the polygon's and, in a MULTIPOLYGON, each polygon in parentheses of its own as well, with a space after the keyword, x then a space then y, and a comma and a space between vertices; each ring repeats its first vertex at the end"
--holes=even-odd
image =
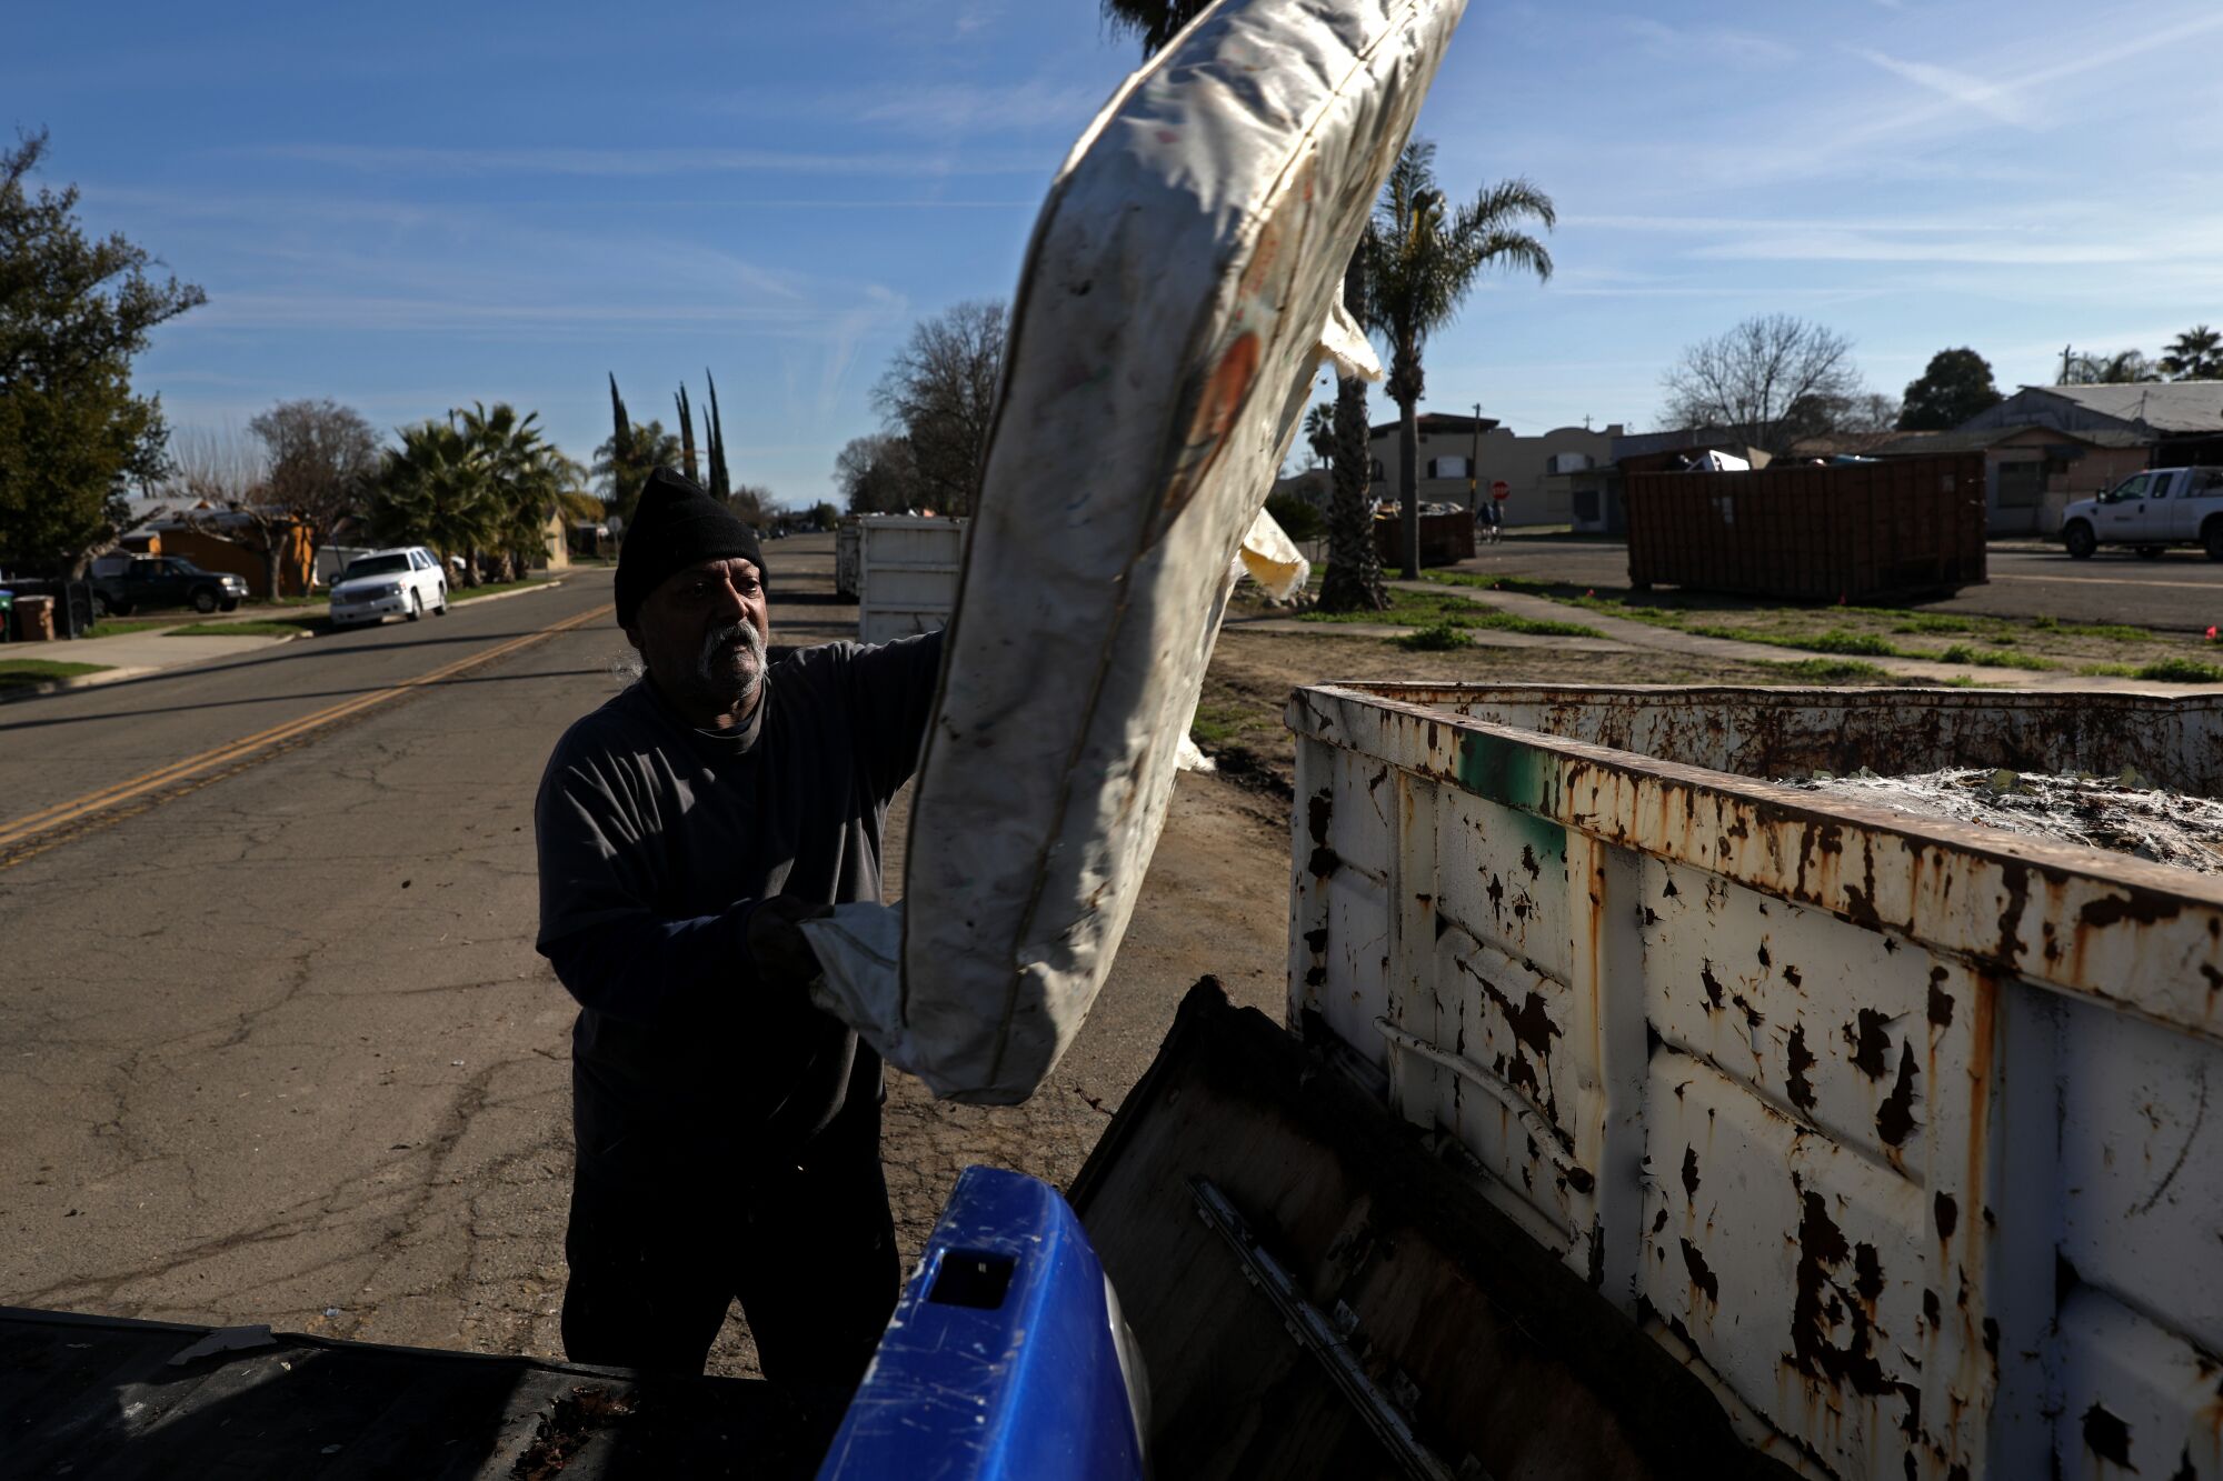
POLYGON ((1514 178, 1481 191, 1456 211, 1436 187, 1436 147, 1405 145, 1380 202, 1367 225, 1367 327, 1389 345, 1389 398, 1398 405, 1398 498, 1403 500, 1400 545, 1405 580, 1420 576, 1420 349, 1427 338, 1458 316, 1467 289, 1487 267, 1532 271, 1552 278, 1552 254, 1521 229, 1536 220, 1549 231, 1558 222, 1552 198, 1529 180, 1514 178))

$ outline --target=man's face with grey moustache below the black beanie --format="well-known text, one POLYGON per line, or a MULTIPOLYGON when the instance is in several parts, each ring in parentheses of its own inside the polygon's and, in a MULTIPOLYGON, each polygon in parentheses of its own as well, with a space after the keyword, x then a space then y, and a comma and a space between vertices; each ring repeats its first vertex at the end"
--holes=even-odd
POLYGON ((625 636, 656 687, 691 720, 738 720, 756 707, 765 678, 765 583, 742 556, 702 560, 649 592, 625 636))

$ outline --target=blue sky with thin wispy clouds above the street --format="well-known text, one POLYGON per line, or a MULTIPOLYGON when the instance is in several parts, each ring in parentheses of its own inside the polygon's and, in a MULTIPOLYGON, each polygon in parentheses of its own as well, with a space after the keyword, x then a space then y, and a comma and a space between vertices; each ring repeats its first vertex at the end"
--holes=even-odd
MULTIPOLYGON (((11 40, 0 122, 51 129, 47 182, 209 291, 138 367, 176 425, 511 400, 587 458, 607 371, 669 425, 709 367, 785 503, 831 494, 916 318, 1009 296, 1138 60, 1094 0, 124 0, 11 40)), ((2219 67, 2214 0, 1476 0, 1420 133, 1454 193, 1552 193, 1558 274, 1469 298, 1429 405, 1654 425, 1676 354, 1767 311, 1892 394, 1950 345, 2012 389, 2223 325, 2219 67)))

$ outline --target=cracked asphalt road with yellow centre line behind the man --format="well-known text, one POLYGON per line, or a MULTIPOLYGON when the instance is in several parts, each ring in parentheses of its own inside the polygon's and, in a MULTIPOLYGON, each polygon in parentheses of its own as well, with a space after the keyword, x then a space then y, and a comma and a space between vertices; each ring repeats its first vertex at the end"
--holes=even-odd
MULTIPOLYGON (((776 645, 854 634, 829 547, 769 547, 776 645)), ((596 569, 0 705, 0 1303, 560 1352, 574 1007, 531 798, 625 652, 596 569)), ((1278 1005, 1285 861, 1285 812, 1183 783, 1058 1081, 891 1087, 911 1250, 965 1163, 1067 1179, 1200 970, 1278 1005)), ((714 1370, 751 1370, 740 1323, 714 1370)))

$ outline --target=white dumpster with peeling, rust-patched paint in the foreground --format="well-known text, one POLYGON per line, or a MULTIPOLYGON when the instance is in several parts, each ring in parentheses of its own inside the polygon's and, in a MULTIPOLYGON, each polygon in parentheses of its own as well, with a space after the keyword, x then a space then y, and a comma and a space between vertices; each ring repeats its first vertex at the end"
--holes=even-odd
POLYGON ((2223 1477, 2223 883, 1816 767, 2223 789, 2223 700, 1312 687, 1292 1023, 1821 1477, 2223 1477))

